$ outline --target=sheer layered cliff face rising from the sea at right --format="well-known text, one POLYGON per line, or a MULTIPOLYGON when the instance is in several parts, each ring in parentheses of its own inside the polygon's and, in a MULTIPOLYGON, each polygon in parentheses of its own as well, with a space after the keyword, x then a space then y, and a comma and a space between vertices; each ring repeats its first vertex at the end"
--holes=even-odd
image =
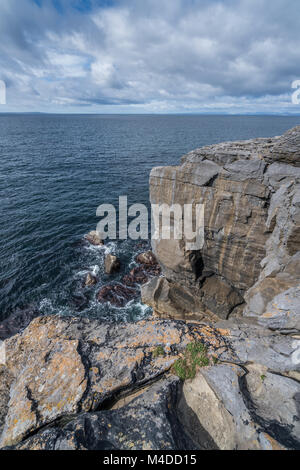
POLYGON ((164 278, 143 289, 161 316, 228 318, 299 330, 300 126, 282 137, 195 150, 154 168, 153 204, 204 204, 205 242, 153 242, 164 278))

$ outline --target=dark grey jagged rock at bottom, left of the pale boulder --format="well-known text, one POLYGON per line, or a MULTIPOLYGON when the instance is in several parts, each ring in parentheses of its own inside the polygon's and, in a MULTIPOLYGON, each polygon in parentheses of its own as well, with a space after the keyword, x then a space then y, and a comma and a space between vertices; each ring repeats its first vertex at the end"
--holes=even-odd
POLYGON ((193 450, 176 415, 178 382, 175 377, 160 381, 121 409, 83 413, 17 449, 193 450))

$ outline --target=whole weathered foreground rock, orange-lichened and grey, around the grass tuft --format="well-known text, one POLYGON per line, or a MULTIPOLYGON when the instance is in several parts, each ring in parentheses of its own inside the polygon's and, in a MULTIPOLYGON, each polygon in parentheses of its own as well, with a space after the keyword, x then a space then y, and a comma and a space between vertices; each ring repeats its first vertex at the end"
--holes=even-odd
POLYGON ((5 341, 0 446, 298 448, 294 341, 251 321, 37 318, 5 341), (182 388, 170 368, 193 341, 219 362, 182 388))

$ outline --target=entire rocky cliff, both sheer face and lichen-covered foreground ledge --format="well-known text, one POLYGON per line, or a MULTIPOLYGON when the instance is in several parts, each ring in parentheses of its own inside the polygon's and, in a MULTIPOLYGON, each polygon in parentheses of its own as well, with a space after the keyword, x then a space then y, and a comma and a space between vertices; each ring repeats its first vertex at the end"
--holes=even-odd
POLYGON ((205 205, 203 248, 153 243, 159 319, 6 339, 0 447, 300 449, 299 178, 300 127, 153 169, 152 203, 205 205))

